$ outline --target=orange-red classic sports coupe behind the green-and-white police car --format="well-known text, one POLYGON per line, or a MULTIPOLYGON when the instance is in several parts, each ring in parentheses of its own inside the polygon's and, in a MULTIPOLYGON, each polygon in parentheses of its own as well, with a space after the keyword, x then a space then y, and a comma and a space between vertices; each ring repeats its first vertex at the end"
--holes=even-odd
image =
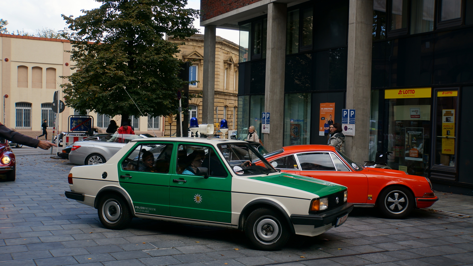
MULTIPOLYGON (((295 145, 264 155, 274 168, 348 187, 355 207, 377 207, 387 218, 401 219, 414 208, 428 208, 438 197, 429 178, 403 171, 364 168, 328 145, 295 145)), ((256 163, 258 164, 258 163, 256 163)))

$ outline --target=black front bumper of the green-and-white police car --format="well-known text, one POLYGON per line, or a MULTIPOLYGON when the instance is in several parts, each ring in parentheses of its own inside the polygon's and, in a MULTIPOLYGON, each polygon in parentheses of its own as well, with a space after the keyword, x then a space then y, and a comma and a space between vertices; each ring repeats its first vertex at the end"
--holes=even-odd
POLYGON ((297 225, 313 225, 314 227, 321 227, 326 224, 335 225, 337 219, 343 215, 350 213, 353 210, 352 203, 345 203, 333 210, 326 211, 320 214, 291 214, 291 221, 297 225))

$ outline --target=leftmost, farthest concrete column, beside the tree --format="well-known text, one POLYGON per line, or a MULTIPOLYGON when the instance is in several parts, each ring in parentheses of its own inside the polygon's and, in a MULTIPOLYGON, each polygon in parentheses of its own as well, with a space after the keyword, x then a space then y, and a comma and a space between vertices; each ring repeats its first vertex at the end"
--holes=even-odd
POLYGON ((215 37, 216 27, 205 26, 204 70, 202 80, 202 123, 213 124, 215 98, 215 37))

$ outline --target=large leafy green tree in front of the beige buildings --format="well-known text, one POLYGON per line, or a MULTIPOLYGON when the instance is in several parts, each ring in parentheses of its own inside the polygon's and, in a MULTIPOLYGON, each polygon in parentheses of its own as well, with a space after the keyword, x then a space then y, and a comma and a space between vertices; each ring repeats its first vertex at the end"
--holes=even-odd
MULTIPOLYGON (((61 85, 66 105, 82 114, 168 115, 177 112, 176 92, 188 81, 178 78, 179 45, 164 35, 197 33, 199 10, 180 0, 96 0, 102 6, 66 20, 63 37, 71 41, 70 83, 61 85), (79 71, 80 70, 80 71, 79 71)), ((125 119, 122 119, 122 122, 125 119)))

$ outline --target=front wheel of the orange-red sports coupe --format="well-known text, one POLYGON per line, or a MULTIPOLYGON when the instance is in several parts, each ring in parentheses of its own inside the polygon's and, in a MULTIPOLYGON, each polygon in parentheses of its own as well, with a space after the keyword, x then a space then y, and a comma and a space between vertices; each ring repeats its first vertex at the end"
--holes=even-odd
POLYGON ((389 186, 379 194, 379 211, 388 219, 403 219, 412 212, 414 196, 404 186, 389 186))

